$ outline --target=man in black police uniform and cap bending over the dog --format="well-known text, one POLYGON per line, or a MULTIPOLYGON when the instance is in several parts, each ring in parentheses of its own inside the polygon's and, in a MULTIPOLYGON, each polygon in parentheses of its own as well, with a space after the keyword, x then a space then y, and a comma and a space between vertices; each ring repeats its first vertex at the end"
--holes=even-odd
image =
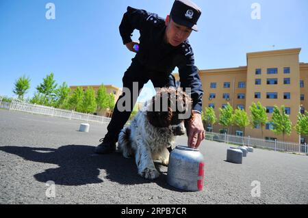
MULTIPOLYGON (((188 146, 198 148, 205 137, 201 120, 203 90, 198 68, 194 66, 194 53, 188 42, 192 30, 198 31, 196 22, 201 15, 201 9, 192 1, 176 0, 170 16, 166 20, 157 14, 128 7, 120 23, 120 36, 129 51, 136 52, 131 66, 123 77, 123 87, 130 90, 130 96, 125 92, 120 96, 131 100, 131 110, 120 112, 118 103, 114 108, 112 120, 107 126, 107 134, 95 152, 107 154, 116 150, 116 141, 123 126, 129 119, 136 98, 133 98, 133 83, 138 83, 138 91, 145 83, 152 81, 154 87, 175 87, 175 77, 171 74, 175 67, 179 68, 181 87, 191 88, 192 113, 194 120, 188 122, 188 146), (140 31, 140 43, 132 42, 131 33, 134 29, 140 31), (139 51, 136 51, 136 45, 139 51)), ((139 93, 139 92, 138 92, 139 93)), ((136 97, 136 96, 135 96, 136 97)))

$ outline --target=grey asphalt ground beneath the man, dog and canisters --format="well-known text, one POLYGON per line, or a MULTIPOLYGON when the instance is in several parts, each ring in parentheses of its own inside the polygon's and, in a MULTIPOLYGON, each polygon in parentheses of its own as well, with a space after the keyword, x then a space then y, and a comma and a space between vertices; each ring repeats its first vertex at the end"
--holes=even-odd
POLYGON ((225 161, 227 144, 203 141, 205 189, 187 192, 166 183, 167 167, 157 165, 161 176, 148 181, 133 159, 94 154, 106 125, 90 122, 81 133, 81 123, 0 109, 0 204, 308 203, 308 156, 255 149, 236 165, 225 161))

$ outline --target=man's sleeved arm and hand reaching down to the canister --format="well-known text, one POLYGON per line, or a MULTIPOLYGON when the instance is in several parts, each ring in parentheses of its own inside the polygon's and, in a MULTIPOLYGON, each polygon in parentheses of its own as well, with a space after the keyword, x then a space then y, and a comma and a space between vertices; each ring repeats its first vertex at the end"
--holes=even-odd
POLYGON ((194 66, 194 54, 190 46, 185 53, 184 61, 179 68, 179 77, 181 87, 185 92, 188 92, 190 88, 190 94, 192 98, 192 119, 188 122, 188 146, 190 148, 198 148, 201 141, 205 138, 205 131, 203 122, 201 119, 202 113, 202 96, 203 89, 200 76, 198 74, 198 68, 194 66))

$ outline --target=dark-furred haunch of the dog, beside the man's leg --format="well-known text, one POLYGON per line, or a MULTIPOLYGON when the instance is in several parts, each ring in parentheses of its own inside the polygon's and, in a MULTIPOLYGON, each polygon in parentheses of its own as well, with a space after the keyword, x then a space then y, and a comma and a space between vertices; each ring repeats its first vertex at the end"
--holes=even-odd
POLYGON ((131 140, 129 139, 131 135, 131 129, 129 127, 123 128, 118 135, 118 150, 122 152, 125 158, 130 158, 133 156, 133 149, 131 148, 131 140))

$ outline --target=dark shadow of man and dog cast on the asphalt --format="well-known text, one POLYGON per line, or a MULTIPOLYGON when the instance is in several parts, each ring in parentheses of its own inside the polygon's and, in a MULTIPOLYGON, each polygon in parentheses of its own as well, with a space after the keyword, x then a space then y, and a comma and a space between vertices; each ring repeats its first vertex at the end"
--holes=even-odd
POLYGON ((67 145, 57 149, 2 146, 0 150, 21 156, 27 161, 58 165, 35 174, 34 178, 39 182, 51 180, 56 185, 68 186, 101 183, 105 179, 123 185, 156 182, 165 189, 179 191, 166 182, 166 167, 155 163, 161 169, 161 175, 156 180, 146 180, 138 176, 134 159, 125 159, 120 153, 94 154, 93 146, 67 145))

